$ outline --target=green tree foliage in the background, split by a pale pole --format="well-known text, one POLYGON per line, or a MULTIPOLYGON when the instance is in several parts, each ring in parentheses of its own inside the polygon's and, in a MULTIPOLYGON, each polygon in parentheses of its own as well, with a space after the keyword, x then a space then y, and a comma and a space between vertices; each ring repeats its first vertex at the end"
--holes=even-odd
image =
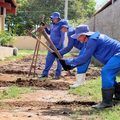
MULTIPOLYGON (((52 12, 58 11, 64 17, 65 0, 17 0, 17 16, 8 15, 6 26, 8 31, 24 35, 26 29, 39 25, 42 16, 49 22, 52 12)), ((68 20, 84 22, 95 12, 95 0, 69 0, 68 20)))

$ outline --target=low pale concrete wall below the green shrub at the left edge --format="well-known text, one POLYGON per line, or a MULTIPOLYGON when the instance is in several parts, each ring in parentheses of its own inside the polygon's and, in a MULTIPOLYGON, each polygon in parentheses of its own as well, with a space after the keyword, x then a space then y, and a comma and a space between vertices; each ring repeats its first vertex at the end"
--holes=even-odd
POLYGON ((0 47, 0 59, 5 57, 13 56, 13 48, 10 47, 0 47))

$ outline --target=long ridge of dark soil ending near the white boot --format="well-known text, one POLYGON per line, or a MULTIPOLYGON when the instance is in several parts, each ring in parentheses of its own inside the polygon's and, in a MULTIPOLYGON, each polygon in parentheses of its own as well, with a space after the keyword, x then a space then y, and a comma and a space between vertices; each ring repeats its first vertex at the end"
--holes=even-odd
POLYGON ((53 81, 40 81, 34 79, 21 79, 16 81, 0 81, 0 87, 17 85, 19 87, 41 87, 49 90, 67 90, 69 89, 69 83, 66 82, 53 82, 53 81))

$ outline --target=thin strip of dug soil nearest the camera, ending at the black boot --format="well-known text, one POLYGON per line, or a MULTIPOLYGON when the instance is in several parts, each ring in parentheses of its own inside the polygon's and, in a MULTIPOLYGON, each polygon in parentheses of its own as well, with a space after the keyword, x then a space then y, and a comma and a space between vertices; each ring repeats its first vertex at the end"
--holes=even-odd
MULTIPOLYGON (((0 102, 1 103, 1 102, 0 102)), ((9 107, 38 107, 39 109, 50 109, 50 108, 60 108, 60 107, 68 107, 74 108, 82 106, 92 106, 95 105, 95 102, 91 101, 58 101, 58 102, 43 102, 43 101, 9 101, 2 102, 9 107)))

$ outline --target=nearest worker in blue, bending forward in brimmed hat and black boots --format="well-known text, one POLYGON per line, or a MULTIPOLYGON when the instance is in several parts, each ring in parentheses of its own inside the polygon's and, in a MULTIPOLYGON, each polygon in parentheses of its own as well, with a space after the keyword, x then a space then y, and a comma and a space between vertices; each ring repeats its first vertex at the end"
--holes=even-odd
POLYGON ((76 28, 72 38, 85 43, 84 54, 76 58, 60 60, 65 70, 73 69, 85 64, 92 56, 104 64, 102 77, 102 102, 94 105, 94 108, 106 108, 113 106, 113 98, 120 100, 120 83, 116 81, 116 75, 120 71, 120 42, 99 32, 90 32, 87 25, 76 28))

